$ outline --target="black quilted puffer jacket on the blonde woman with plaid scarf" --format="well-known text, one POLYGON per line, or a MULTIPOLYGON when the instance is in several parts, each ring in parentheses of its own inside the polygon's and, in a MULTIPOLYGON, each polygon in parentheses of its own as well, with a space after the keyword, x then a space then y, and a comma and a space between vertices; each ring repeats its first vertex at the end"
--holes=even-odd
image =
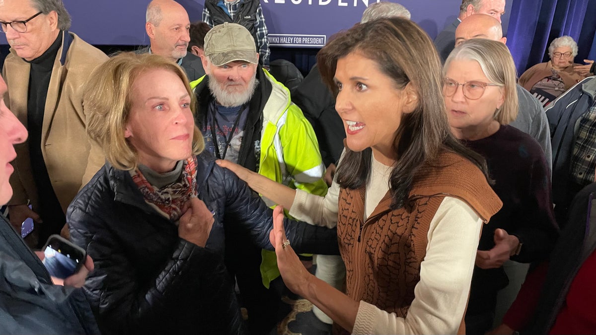
MULTIPOLYGON (((69 206, 70 238, 95 270, 85 293, 103 333, 243 333, 223 265, 226 234, 244 234, 272 250, 272 211, 229 170, 201 154, 197 188, 215 224, 205 248, 145 203, 129 172, 106 164, 69 206)), ((292 246, 339 253, 336 231, 285 222, 292 246)))

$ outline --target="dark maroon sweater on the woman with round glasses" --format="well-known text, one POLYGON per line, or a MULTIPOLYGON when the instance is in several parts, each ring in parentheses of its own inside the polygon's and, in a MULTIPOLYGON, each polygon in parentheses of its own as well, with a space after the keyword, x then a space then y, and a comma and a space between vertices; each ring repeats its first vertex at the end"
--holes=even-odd
MULTIPOLYGON (((523 243, 516 262, 536 262, 546 258, 558 235, 552 211, 550 168, 542 148, 532 137, 511 126, 477 141, 462 141, 482 154, 489 175, 495 181, 493 190, 503 207, 482 229, 479 250, 490 250, 495 229, 516 235, 523 243)), ((507 286, 504 270, 474 268, 468 315, 495 308, 496 292, 507 286)))

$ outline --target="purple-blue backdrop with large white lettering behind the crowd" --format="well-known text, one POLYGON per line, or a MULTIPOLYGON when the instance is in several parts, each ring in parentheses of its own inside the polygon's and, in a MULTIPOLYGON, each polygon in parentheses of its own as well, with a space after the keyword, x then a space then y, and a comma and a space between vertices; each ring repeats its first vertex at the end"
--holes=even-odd
MULTIPOLYGON (((360 20, 376 0, 261 0, 269 33, 329 38, 360 20)), ((204 0, 178 0, 191 21, 200 21, 204 0)), ((461 0, 395 0, 430 37, 455 20, 461 0)), ((72 32, 94 45, 146 45, 145 8, 149 0, 64 0, 73 18, 72 32)), ((510 12, 508 5, 507 13, 510 12)), ((507 27, 508 14, 503 17, 507 27)), ((6 44, 0 34, 0 44, 6 44)), ((296 45, 308 46, 308 45, 296 45)), ((313 45, 314 46, 314 45, 313 45)))

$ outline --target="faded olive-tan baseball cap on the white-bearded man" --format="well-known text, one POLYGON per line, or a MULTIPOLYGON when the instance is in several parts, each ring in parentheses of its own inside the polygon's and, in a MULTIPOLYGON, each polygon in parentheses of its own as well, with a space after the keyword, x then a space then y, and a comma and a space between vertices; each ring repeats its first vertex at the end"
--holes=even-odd
POLYGON ((236 60, 253 64, 259 62, 253 35, 236 23, 225 22, 209 30, 205 35, 204 52, 215 66, 236 60))

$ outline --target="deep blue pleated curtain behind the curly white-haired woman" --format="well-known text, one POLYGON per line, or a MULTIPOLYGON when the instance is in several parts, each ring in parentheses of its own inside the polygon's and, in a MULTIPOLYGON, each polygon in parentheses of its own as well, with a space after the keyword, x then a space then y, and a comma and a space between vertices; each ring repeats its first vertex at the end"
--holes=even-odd
POLYGON ((513 0, 507 45, 521 74, 549 59, 553 39, 578 42, 576 63, 596 60, 596 0, 513 0))

